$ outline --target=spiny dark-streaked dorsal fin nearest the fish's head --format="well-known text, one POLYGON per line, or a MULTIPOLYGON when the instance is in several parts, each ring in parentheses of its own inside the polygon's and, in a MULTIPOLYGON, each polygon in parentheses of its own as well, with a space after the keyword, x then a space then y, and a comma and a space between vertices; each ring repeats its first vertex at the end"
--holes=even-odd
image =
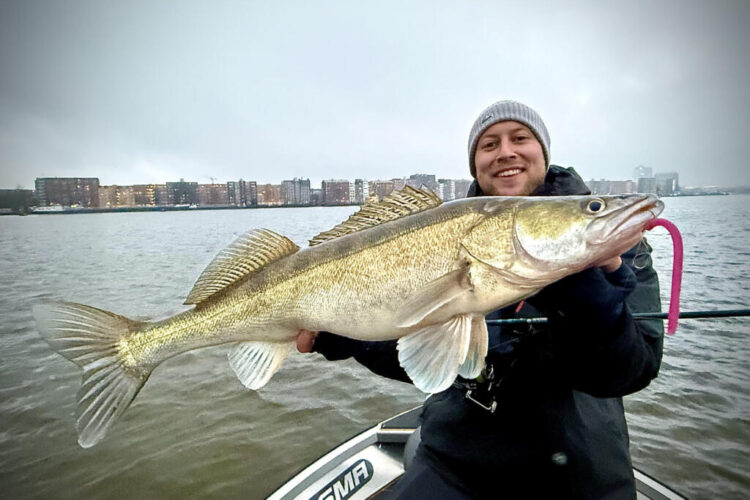
POLYGON ((442 203, 432 191, 404 186, 380 201, 367 202, 348 219, 328 231, 324 231, 310 240, 310 246, 333 240, 345 234, 356 233, 383 222, 400 219, 407 215, 422 212, 439 206, 442 203))

